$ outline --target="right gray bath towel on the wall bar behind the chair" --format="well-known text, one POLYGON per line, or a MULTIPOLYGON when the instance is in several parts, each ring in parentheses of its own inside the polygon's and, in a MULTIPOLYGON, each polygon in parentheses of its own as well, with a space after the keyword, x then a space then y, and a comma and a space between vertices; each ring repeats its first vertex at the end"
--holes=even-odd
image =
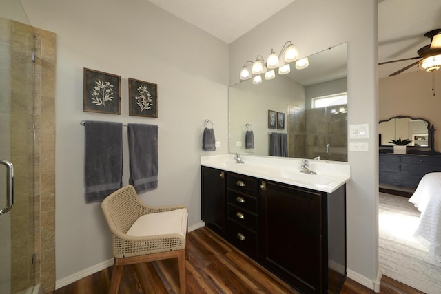
POLYGON ((130 123, 129 137, 130 176, 129 183, 137 193, 158 187, 158 126, 130 123))

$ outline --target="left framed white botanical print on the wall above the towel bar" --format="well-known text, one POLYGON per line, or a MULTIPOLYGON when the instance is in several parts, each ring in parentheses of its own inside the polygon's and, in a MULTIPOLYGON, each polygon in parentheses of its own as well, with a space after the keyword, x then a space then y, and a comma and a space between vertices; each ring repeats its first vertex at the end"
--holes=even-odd
POLYGON ((121 76, 84 67, 83 112, 121 114, 121 76))

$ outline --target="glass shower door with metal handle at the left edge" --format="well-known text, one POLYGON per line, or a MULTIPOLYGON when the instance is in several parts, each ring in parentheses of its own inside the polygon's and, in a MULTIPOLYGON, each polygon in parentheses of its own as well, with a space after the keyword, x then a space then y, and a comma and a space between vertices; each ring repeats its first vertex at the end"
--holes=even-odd
POLYGON ((1 16, 0 293, 34 286, 33 52, 32 27, 1 16))

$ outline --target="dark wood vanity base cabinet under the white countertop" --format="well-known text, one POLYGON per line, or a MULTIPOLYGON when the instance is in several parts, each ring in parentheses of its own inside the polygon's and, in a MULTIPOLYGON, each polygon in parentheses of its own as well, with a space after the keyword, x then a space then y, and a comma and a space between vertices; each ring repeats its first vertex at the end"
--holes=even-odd
MULTIPOLYGON (((207 169, 212 168, 202 167, 203 174, 207 169)), ((224 175, 225 234, 219 235, 302 293, 338 293, 346 277, 345 185, 326 193, 224 175)), ((215 203, 206 199, 216 195, 210 191, 202 191, 205 205, 215 203)), ((205 207, 205 213, 220 207, 205 207)))

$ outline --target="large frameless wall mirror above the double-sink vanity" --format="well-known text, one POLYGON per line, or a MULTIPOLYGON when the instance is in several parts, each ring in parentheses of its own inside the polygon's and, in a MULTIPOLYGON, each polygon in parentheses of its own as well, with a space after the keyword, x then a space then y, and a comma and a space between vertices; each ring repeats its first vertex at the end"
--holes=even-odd
POLYGON ((289 74, 229 88, 230 153, 347 161, 347 43, 307 58, 302 70, 292 63, 289 74), (280 123, 273 127, 269 114, 280 123), (252 149, 245 144, 249 131, 252 149), (272 153, 278 133, 287 142, 281 155, 272 153))

